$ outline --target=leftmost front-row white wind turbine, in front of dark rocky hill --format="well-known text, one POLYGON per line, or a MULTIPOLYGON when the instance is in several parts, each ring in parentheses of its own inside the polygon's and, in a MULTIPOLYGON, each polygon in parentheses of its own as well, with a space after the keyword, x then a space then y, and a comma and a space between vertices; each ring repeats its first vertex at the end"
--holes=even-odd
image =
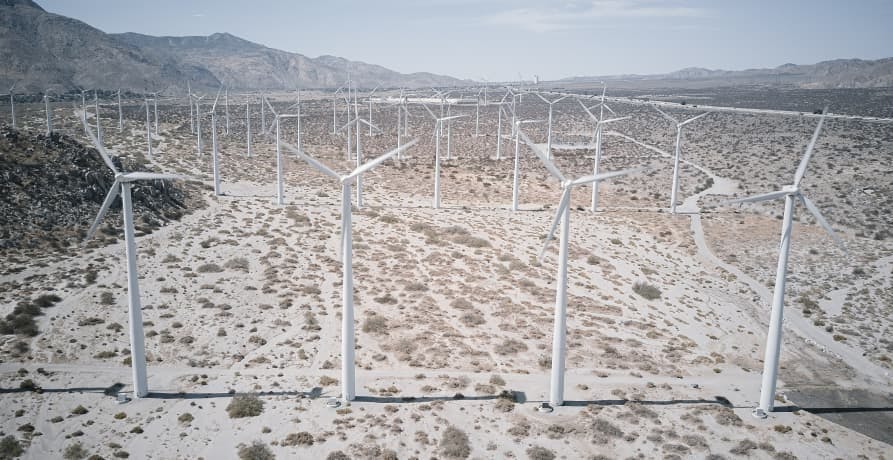
POLYGON ((103 217, 105 217, 112 202, 115 201, 115 198, 120 193, 124 211, 124 251, 127 255, 127 306, 130 319, 130 363, 133 370, 133 394, 136 398, 143 398, 149 394, 149 384, 146 376, 146 346, 140 305, 139 273, 136 268, 136 236, 133 229, 133 200, 130 188, 131 184, 137 181, 178 180, 183 178, 171 174, 120 172, 115 168, 112 159, 89 129, 87 134, 90 136, 90 140, 106 166, 115 174, 115 182, 109 188, 109 193, 106 195, 105 201, 102 202, 102 207, 99 208, 96 220, 93 221, 93 225, 87 231, 87 237, 84 239, 84 242, 86 243, 96 233, 96 229, 102 223, 103 217))

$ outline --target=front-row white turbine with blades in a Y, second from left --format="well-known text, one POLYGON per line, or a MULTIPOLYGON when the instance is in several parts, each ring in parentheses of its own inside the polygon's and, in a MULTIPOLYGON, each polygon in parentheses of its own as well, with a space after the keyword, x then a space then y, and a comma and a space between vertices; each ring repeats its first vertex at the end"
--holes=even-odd
POLYGON ((313 157, 305 154, 300 149, 284 144, 286 148, 297 154, 319 172, 336 179, 341 183, 341 398, 345 401, 353 401, 356 398, 356 365, 354 333, 354 305, 353 305, 353 233, 352 233, 352 209, 350 206, 351 184, 363 173, 378 166, 388 158, 400 151, 406 150, 416 143, 416 139, 406 143, 399 149, 390 152, 356 168, 347 175, 340 175, 328 166, 320 163, 313 157))

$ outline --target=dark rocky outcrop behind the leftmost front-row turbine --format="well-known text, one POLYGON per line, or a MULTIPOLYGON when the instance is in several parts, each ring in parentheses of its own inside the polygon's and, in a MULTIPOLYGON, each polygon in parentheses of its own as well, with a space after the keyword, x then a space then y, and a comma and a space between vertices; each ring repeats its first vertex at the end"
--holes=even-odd
MULTIPOLYGON (((122 171, 146 168, 113 161, 122 171)), ((0 129, 0 251, 12 248, 67 247, 79 243, 114 182, 99 154, 78 141, 53 133, 0 129)), ((189 193, 170 181, 138 182, 132 188, 135 226, 150 232, 180 218, 189 193)), ((106 215, 121 232, 121 198, 106 215)))

